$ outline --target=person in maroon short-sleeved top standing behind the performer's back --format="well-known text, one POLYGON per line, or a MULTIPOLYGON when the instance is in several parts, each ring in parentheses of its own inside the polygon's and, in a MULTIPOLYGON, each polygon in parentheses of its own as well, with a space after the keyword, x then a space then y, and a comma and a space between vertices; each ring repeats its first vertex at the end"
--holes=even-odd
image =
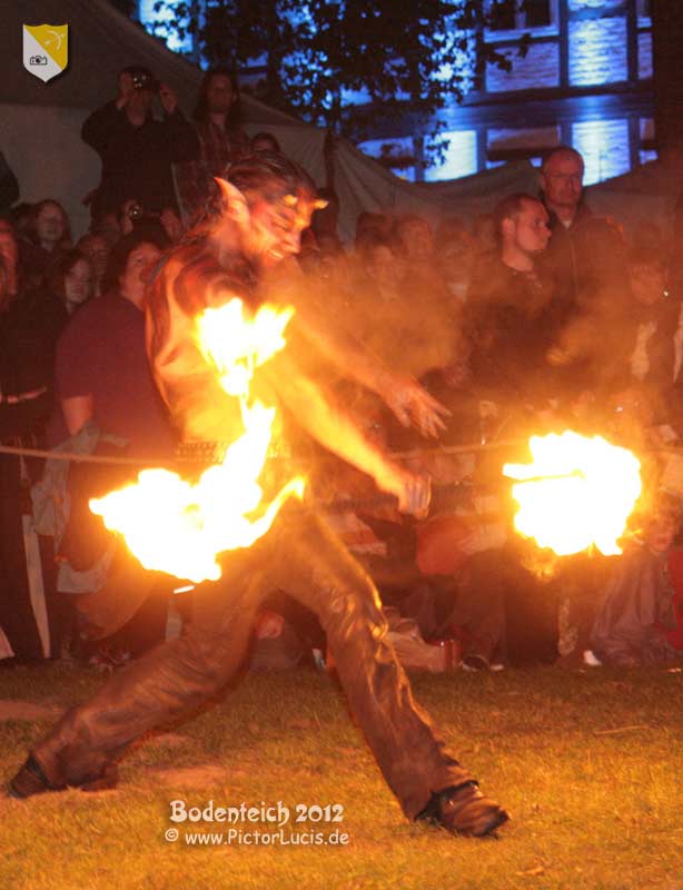
MULTIPOLYGON (((145 345, 146 287, 165 246, 143 234, 121 239, 111 253, 105 296, 90 300, 65 329, 57 348, 56 388, 61 411, 51 425, 53 443, 76 436, 93 422, 103 433, 125 439, 130 456, 162 458, 172 453, 175 435, 145 345)), ((71 467, 70 525, 60 552, 73 567, 89 567, 106 546, 101 524, 88 511, 89 497, 120 484, 111 467, 105 475, 91 465, 71 467)), ((123 548, 117 551, 105 586, 79 596, 78 606, 89 624, 98 627, 99 636, 113 632, 132 615, 117 645, 137 655, 162 639, 166 599, 150 596, 156 576, 145 573, 126 554, 123 548), (117 624, 121 613, 126 619, 117 624)))

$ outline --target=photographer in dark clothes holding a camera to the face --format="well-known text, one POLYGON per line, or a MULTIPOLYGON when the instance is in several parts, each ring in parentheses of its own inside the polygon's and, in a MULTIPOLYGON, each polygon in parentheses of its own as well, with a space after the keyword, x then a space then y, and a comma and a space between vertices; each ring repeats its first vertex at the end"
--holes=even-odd
POLYGON ((126 68, 119 75, 117 98, 93 111, 81 130, 85 142, 102 160, 102 179, 92 198, 93 218, 116 211, 135 198, 146 211, 176 208, 171 164, 192 160, 199 144, 178 108, 175 92, 147 68, 126 68), (155 120, 159 97, 164 119, 155 120))

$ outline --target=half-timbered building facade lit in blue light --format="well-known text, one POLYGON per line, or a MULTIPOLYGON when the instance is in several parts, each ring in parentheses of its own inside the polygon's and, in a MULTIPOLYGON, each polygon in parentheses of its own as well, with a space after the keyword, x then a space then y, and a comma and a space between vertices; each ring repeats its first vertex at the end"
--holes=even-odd
MULTIPOLYGON (((152 7, 140 1, 143 23, 152 7)), ((473 41, 494 44, 512 70, 488 65, 478 89, 442 116, 449 142, 443 162, 420 162, 409 115, 378 122, 360 148, 412 180, 455 179, 518 158, 540 162, 557 145, 584 156, 586 184, 627 172, 655 157, 650 7, 650 0, 518 0, 473 41)))

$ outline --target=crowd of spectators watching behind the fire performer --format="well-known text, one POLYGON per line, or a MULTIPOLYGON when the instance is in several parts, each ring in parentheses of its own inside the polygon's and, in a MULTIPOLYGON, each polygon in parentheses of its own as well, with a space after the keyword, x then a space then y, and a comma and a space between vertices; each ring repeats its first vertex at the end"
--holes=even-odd
MULTIPOLYGON (((246 135, 222 69, 206 75, 190 122, 152 72, 127 68, 81 135, 101 181, 77 241, 59 200, 17 202, 21 182, 0 156, 0 442, 53 452, 0 454, 2 666, 116 668, 192 621, 191 594, 145 572, 88 501, 135 475, 137 458, 172 461, 176 432, 146 348, 148 283, 171 246, 201 236, 221 199, 215 177, 280 151, 270 134, 246 135), (130 459, 68 462, 60 451, 130 459)), ((443 428, 425 439, 387 399, 309 368, 368 438, 430 477, 424 520, 297 442, 316 500, 349 502, 329 521, 375 582, 408 666, 683 659, 683 226, 643 220, 626 239, 618 220, 591 211, 583 172, 581 155, 558 147, 536 194, 501 195, 472 225, 457 206, 436 228, 364 212, 353 244, 339 239, 326 182, 296 264, 270 283, 275 299, 324 319, 438 405, 443 428), (566 428, 643 461, 645 495, 621 557, 546 558, 513 530, 504 459, 524 459, 529 435, 566 428)), ((249 659, 254 669, 331 666, 334 654, 315 615, 278 590, 249 659)))

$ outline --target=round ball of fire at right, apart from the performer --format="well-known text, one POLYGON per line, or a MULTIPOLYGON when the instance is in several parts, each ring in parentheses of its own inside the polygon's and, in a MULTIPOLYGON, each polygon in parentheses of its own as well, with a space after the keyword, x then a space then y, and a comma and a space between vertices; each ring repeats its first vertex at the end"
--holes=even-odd
POLYGON ((505 464, 518 479, 516 530, 560 556, 595 545, 605 555, 621 553, 617 540, 641 494, 641 464, 626 448, 601 436, 532 436, 531 464, 505 464))

